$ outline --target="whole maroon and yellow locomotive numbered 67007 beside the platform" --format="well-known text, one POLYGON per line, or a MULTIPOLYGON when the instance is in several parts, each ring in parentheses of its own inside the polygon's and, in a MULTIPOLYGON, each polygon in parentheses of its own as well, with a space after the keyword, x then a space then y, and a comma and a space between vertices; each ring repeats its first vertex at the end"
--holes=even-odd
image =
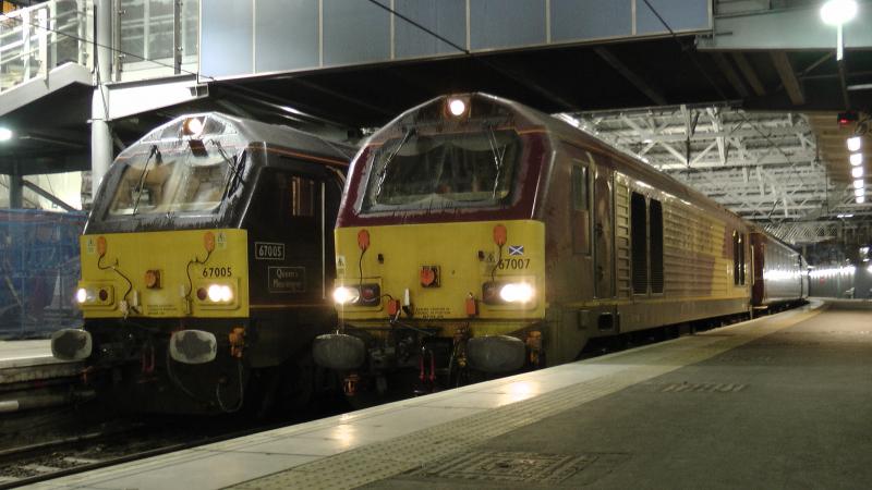
POLYGON ((591 339, 750 314, 755 231, 566 122, 445 96, 374 134, 336 230, 340 326, 315 359, 349 394, 577 358, 591 339))

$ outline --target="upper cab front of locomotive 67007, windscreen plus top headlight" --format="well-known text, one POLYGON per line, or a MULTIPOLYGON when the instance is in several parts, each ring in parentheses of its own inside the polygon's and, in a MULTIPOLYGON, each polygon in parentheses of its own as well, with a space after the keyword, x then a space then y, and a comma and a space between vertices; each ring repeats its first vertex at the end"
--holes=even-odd
POLYGON ((443 97, 393 121, 374 140, 360 215, 505 208, 523 184, 516 114, 482 95, 443 97))

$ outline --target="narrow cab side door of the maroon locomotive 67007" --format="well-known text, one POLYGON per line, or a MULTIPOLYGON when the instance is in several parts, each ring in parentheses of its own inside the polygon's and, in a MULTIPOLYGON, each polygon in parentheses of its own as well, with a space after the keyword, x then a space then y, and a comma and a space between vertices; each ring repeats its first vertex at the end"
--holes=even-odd
POLYGON ((597 166, 593 185, 594 295, 615 296, 614 172, 597 166))

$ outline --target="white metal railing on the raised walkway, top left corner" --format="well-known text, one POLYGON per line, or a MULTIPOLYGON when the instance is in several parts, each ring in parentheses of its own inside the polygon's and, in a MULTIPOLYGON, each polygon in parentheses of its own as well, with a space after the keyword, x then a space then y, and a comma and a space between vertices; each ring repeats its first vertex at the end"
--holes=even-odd
POLYGON ((93 65, 94 12, 87 0, 49 0, 0 16, 0 94, 56 66, 93 65))

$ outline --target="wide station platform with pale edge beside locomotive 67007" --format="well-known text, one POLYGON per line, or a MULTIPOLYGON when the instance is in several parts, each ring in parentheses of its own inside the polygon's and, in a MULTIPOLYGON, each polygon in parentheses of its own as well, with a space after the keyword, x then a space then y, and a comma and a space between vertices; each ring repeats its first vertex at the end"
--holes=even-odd
POLYGON ((51 489, 867 488, 872 310, 807 307, 51 489))

